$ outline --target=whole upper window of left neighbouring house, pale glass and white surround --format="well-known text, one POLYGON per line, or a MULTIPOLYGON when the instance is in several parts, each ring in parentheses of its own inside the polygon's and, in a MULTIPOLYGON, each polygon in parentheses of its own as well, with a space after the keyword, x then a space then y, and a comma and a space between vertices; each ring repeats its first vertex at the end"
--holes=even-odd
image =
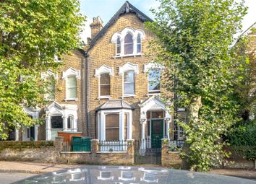
POLYGON ((66 81, 65 100, 77 100, 77 79, 80 79, 80 70, 70 67, 62 72, 62 79, 66 81))

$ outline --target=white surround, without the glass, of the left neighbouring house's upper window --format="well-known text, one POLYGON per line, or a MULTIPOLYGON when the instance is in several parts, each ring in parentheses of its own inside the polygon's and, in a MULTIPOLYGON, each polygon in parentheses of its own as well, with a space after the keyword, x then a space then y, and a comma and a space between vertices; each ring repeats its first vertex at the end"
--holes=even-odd
POLYGON ((72 67, 67 69, 66 71, 63 71, 62 73, 62 79, 64 79, 66 81, 66 98, 65 98, 65 101, 69 101, 69 100, 78 100, 78 90, 77 90, 77 97, 69 97, 68 96, 68 78, 70 76, 74 76, 76 78, 76 81, 77 81, 77 89, 78 89, 78 80, 77 79, 80 79, 80 70, 77 70, 77 69, 73 69, 72 67))

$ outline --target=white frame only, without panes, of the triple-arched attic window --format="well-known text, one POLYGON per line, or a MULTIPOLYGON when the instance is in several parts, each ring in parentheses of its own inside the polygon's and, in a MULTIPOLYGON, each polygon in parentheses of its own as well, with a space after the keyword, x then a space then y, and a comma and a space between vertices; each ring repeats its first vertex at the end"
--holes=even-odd
POLYGON ((126 27, 121 32, 115 32, 114 35, 112 35, 111 43, 116 44, 117 38, 120 38, 121 42, 121 53, 113 56, 113 58, 122 58, 122 57, 129 57, 129 56, 141 56, 142 55, 142 40, 145 40, 145 32, 141 29, 133 29, 132 27, 126 27), (132 54, 124 54, 124 38, 125 36, 130 33, 132 35, 133 40, 133 53, 132 54), (140 35, 141 40, 141 52, 137 52, 137 35, 140 35))

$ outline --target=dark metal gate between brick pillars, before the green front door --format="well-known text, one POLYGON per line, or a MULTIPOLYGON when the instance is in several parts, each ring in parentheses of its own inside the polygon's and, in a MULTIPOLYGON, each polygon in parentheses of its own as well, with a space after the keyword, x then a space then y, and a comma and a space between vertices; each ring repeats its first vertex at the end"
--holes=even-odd
POLYGON ((161 139, 135 140, 134 150, 135 165, 161 165, 161 139))

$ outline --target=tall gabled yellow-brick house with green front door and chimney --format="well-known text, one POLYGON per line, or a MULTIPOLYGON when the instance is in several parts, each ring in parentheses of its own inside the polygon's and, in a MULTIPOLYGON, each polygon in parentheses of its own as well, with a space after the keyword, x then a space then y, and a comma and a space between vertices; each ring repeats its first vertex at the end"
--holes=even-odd
POLYGON ((99 17, 93 19, 85 51, 87 136, 100 141, 174 139, 169 131, 173 118, 161 100, 164 67, 145 56, 155 39, 145 28, 148 21, 153 20, 128 1, 104 27, 99 17))

